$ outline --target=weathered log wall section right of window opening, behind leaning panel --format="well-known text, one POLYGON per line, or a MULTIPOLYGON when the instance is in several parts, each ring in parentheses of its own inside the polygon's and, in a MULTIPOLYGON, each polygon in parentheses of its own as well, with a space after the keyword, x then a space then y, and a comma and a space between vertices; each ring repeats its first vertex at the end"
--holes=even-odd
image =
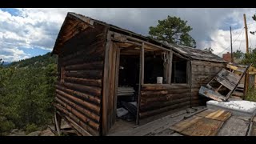
POLYGON ((226 63, 191 61, 191 106, 202 106, 206 104, 206 98, 198 95, 201 86, 206 85, 226 63))

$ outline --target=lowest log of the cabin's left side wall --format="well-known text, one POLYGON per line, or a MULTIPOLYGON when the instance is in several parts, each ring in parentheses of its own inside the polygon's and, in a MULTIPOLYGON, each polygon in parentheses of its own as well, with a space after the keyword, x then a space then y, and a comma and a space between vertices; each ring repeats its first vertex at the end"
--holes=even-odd
POLYGON ((65 102, 62 102, 61 99, 55 98, 55 100, 59 104, 61 104, 61 106, 63 106, 69 112, 69 114, 72 114, 72 115, 70 115, 71 117, 74 117, 74 118, 77 117, 78 121, 80 119, 80 120, 82 120, 82 122, 85 122, 86 125, 87 125, 87 129, 86 130, 89 130, 89 131, 90 131, 90 129, 91 130, 92 129, 99 130, 99 123, 91 121, 90 118, 87 118, 81 112, 79 112, 78 110, 75 110, 72 106, 69 106, 65 102))

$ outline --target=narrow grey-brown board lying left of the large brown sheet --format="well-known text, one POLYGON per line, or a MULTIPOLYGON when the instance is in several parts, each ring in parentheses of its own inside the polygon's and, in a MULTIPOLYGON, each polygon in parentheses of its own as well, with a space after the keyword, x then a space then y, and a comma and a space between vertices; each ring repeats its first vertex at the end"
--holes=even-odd
POLYGON ((183 130, 186 130, 190 126, 197 123, 202 117, 193 116, 191 118, 187 118, 186 120, 183 120, 182 122, 176 123, 174 126, 170 126, 171 130, 175 130, 178 132, 182 132, 183 130))

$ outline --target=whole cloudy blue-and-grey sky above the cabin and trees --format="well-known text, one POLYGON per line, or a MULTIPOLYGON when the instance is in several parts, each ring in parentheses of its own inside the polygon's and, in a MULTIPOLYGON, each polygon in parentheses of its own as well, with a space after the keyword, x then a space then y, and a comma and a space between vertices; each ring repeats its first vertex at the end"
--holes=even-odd
MULTIPOLYGON (((245 51, 243 14, 247 16, 248 29, 256 30, 251 18, 254 9, 0 9, 0 58, 18 61, 53 49, 55 39, 67 12, 83 14, 91 18, 120 26, 138 34, 147 35, 150 26, 167 15, 186 20, 193 30, 191 36, 198 49, 211 47, 214 54, 230 51, 230 26, 234 50, 245 51)), ((256 47, 256 36, 250 34, 250 46, 256 47)))

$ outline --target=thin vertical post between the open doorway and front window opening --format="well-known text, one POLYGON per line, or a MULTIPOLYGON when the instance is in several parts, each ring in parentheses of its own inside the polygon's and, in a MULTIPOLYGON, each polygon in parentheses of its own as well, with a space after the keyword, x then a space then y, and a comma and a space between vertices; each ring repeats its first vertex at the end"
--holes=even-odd
POLYGON ((139 67, 140 67, 140 69, 139 69, 139 82, 138 82, 138 101, 137 101, 136 125, 139 125, 139 107, 140 107, 140 103, 141 103, 141 90, 142 90, 142 84, 144 84, 144 42, 142 42, 139 67))

